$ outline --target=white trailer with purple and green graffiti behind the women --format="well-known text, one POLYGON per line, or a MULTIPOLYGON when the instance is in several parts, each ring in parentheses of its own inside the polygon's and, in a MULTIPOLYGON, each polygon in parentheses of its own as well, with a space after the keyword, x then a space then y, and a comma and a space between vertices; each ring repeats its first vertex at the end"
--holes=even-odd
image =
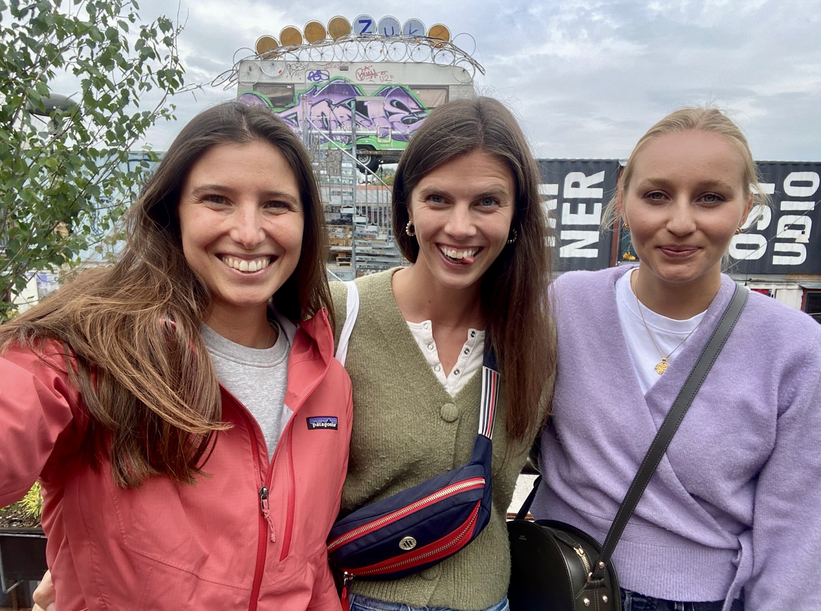
POLYGON ((291 62, 245 59, 238 95, 264 104, 296 131, 355 142, 360 163, 392 163, 429 112, 474 95, 464 67, 414 62, 291 62))

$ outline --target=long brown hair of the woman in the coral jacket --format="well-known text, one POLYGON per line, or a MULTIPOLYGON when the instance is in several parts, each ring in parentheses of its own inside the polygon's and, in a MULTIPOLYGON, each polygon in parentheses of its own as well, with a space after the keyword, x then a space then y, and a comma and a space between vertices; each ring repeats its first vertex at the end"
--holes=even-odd
POLYGON ((222 423, 220 393, 200 324, 211 297, 182 252, 177 206, 190 168, 216 145, 267 142, 300 186, 305 214, 296 270, 274 294, 294 321, 333 311, 324 270, 326 232, 304 145, 266 108, 222 103, 194 117, 173 141, 124 215, 117 263, 89 269, 43 303, 0 326, 0 351, 62 344, 67 372, 89 414, 86 458, 108 457, 118 485, 149 475, 193 482, 222 423))

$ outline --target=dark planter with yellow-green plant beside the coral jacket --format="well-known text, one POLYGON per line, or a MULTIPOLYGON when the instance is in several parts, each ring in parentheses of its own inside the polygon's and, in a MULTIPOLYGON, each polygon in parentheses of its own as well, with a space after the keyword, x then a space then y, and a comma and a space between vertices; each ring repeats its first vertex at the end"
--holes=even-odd
POLYGON ((46 537, 40 526, 43 497, 34 484, 25 497, 0 509, 0 586, 9 604, 31 604, 29 581, 46 571, 46 537))

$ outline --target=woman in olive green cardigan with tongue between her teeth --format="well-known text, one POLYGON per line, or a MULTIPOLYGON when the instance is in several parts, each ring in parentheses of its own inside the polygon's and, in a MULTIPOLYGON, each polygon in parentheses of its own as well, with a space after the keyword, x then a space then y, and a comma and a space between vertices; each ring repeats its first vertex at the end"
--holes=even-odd
MULTIPOLYGON (((488 526, 465 549, 392 581, 351 582, 351 611, 507 609, 505 513, 553 380, 548 228, 539 172, 496 100, 437 108, 402 154, 394 234, 410 267, 360 278, 347 351, 354 386, 342 515, 468 461, 482 354, 504 380, 493 439, 488 526), (548 389, 548 392, 545 392, 548 389)), ((332 285, 338 329, 346 287, 332 285)))

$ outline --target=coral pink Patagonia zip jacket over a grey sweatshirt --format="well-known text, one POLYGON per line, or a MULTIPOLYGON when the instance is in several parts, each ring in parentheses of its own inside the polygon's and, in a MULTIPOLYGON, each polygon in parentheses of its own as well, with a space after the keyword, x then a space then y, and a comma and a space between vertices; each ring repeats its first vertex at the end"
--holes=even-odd
POLYGON ((58 611, 341 609, 325 540, 347 469, 351 380, 324 310, 295 331, 293 414, 273 462, 259 425, 222 388, 233 428, 218 433, 195 485, 117 487, 108 462, 95 472, 80 460, 88 417, 62 356, 47 356, 53 366, 21 349, 0 357, 0 507, 43 485, 58 611))

